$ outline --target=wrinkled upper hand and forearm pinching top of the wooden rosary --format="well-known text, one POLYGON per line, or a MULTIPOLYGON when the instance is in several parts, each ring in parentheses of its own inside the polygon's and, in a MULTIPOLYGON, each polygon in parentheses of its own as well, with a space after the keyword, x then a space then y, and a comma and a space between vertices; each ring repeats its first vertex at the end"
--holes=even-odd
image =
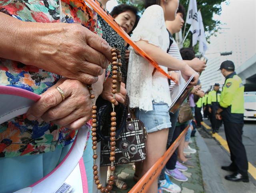
POLYGON ((79 24, 23 22, 0 12, 0 25, 6 37, 1 41, 5 49, 0 49, 0 58, 85 84, 97 82, 112 61, 108 43, 79 24))

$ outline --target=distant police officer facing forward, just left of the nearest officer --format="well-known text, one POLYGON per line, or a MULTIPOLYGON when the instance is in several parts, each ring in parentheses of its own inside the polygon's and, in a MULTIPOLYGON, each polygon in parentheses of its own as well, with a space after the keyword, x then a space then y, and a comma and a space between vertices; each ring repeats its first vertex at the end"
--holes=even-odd
POLYGON ((220 102, 220 84, 214 84, 214 90, 210 91, 208 94, 208 110, 210 113, 210 121, 212 124, 212 133, 219 132, 220 128, 220 120, 216 119, 215 114, 217 109, 219 108, 220 102))

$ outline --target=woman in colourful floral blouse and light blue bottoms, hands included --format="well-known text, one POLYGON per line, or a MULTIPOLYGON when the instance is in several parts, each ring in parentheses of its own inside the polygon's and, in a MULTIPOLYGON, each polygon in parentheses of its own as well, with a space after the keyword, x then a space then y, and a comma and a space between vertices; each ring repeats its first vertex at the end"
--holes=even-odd
POLYGON ((0 125, 2 193, 50 173, 90 119, 87 84, 97 98, 111 61, 95 16, 74 0, 0 2, 0 85, 41 95, 26 115, 0 125))

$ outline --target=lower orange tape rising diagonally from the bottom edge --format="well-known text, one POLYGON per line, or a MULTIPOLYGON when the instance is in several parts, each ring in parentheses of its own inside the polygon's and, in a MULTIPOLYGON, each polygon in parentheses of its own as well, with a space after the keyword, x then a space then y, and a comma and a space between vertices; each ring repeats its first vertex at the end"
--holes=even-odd
MULTIPOLYGON (((188 125, 189 127, 189 125, 188 125)), ((166 165, 167 161, 172 156, 175 149, 180 144, 180 139, 183 135, 186 135, 188 127, 180 133, 179 137, 172 143, 172 145, 169 147, 169 149, 164 153, 154 165, 148 170, 147 173, 134 185, 134 187, 128 192, 128 193, 143 193, 147 192, 151 183, 158 177, 158 175, 161 173, 163 167, 166 165)))

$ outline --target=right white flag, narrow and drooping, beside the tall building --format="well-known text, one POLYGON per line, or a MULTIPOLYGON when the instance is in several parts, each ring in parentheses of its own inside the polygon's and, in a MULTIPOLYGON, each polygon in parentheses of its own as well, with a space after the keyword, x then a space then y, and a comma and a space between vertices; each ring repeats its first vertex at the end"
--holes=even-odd
POLYGON ((198 11, 198 22, 199 22, 199 34, 198 34, 199 49, 198 49, 198 51, 204 55, 204 53, 208 49, 208 46, 207 46, 208 43, 206 41, 206 37, 204 34, 204 24, 203 24, 202 14, 201 14, 200 10, 198 11))

